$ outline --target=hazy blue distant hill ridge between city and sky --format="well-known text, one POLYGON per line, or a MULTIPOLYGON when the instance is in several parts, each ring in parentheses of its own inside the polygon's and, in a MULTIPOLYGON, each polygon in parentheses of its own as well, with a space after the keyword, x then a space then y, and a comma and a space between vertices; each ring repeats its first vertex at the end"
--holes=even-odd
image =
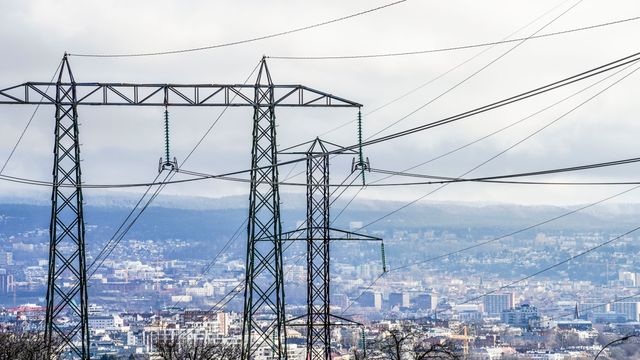
MULTIPOLYGON (((2 217, 29 217, 30 213, 38 213, 39 224, 46 224, 49 212, 49 197, 34 194, 32 197, 0 197, 0 224, 2 217)), ((136 193, 102 193, 89 195, 86 200, 87 222, 117 222, 132 208, 140 195, 136 193), (108 217, 109 221, 102 219, 108 217)), ((334 209, 341 209, 345 201, 337 201, 334 209)), ((356 199, 341 216, 337 225, 348 226, 351 221, 367 223, 398 209, 406 204, 401 201, 385 201, 356 199)), ((209 219, 212 223, 226 227, 227 222, 241 223, 246 217, 248 197, 246 195, 223 198, 207 198, 197 196, 161 195, 147 211, 141 222, 156 223, 176 221, 186 217, 189 222, 209 219), (153 217, 158 216, 158 219, 153 217), (236 219, 237 218, 237 219, 236 219), (219 222, 221 221, 221 222, 219 222)), ((560 207, 553 205, 515 205, 500 203, 458 203, 458 202, 424 202, 414 204, 393 216, 376 223, 374 228, 439 228, 439 227, 500 227, 512 228, 529 226, 546 219, 561 216, 579 206, 560 207)), ((283 224, 293 226, 304 219, 304 194, 282 194, 283 224)), ((335 214, 334 210, 334 214, 335 214)), ((544 228, 551 229, 627 229, 640 222, 640 204, 601 204, 584 211, 562 217, 544 228)), ((25 219, 26 220, 26 219, 25 219)), ((185 219, 183 219, 185 220, 185 219)), ((184 222, 184 221, 183 221, 184 222)), ((235 225, 237 226, 237 225, 235 225)))

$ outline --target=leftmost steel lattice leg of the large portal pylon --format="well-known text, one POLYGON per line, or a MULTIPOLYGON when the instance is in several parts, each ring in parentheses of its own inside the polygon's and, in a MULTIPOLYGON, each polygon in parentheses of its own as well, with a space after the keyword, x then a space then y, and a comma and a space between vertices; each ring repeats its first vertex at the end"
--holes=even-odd
POLYGON ((53 192, 49 227, 49 275, 45 338, 60 341, 48 347, 48 356, 59 350, 89 359, 87 270, 85 261, 82 177, 78 141, 76 85, 67 56, 62 60, 55 97, 55 146, 53 192), (65 82, 65 83, 63 83, 65 82), (67 283, 63 285, 64 283, 67 283), (57 323, 68 316, 67 324, 57 323))

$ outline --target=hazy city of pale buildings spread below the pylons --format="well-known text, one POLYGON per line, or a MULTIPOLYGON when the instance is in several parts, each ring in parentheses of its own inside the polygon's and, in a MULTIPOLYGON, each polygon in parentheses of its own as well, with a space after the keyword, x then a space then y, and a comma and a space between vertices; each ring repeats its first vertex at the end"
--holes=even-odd
MULTIPOLYGON (((299 201, 294 196, 291 202, 299 201)), ((13 212, 3 213, 7 228, 23 229, 2 234, 0 300, 5 330, 37 331, 44 321, 48 232, 37 226, 24 227, 17 216, 20 207, 33 206, 15 206, 13 212)), ((157 210, 173 213, 177 221, 190 216, 186 210, 157 210)), ((295 208, 288 210, 292 217, 303 215, 295 208)), ((469 219, 462 216, 460 220, 469 219)), ((335 245, 339 252, 331 264, 331 309, 358 325, 343 322, 332 327, 332 358, 351 359, 354 352, 388 358, 380 346, 386 331, 418 332, 420 341, 447 344, 460 357, 593 357, 602 345, 640 327, 640 274, 634 264, 640 245, 636 236, 625 236, 583 261, 513 283, 535 273, 539 264, 554 264, 619 236, 604 221, 593 225, 603 230, 542 228, 503 238, 490 248, 415 265, 415 259, 425 258, 423 252, 442 254, 447 248, 492 241, 502 235, 501 229, 385 226, 374 234, 385 239, 389 259, 398 259, 395 253, 420 244, 441 245, 425 247, 415 259, 390 261, 384 279, 373 286, 370 284, 383 273, 379 249, 355 242, 335 245)), ((351 221, 347 226, 355 229, 362 224, 351 221)), ((98 224, 88 223, 87 228, 90 234, 108 231, 98 224)), ((204 250, 198 240, 146 239, 146 231, 137 232, 141 238, 127 239, 113 260, 105 261, 90 280, 94 357, 143 358, 157 351, 159 339, 178 336, 188 342, 204 339, 237 346, 242 333, 242 289, 238 286, 245 273, 240 247, 204 250), (211 265, 206 257, 188 255, 200 252, 219 256, 211 265), (206 276, 202 276, 204 268, 208 269, 206 276)), ((187 235, 200 236, 197 232, 187 235)), ((101 247, 90 246, 88 259, 101 247)), ((292 250, 285 259, 286 309, 292 318, 306 311, 307 275, 301 254, 304 249, 292 250)), ((303 335, 293 324, 289 327, 290 358, 304 358, 303 335)), ((417 345, 407 342, 404 346, 403 351, 409 353, 417 345)), ((627 358, 633 358, 637 350, 633 343, 616 349, 617 356, 627 358)))

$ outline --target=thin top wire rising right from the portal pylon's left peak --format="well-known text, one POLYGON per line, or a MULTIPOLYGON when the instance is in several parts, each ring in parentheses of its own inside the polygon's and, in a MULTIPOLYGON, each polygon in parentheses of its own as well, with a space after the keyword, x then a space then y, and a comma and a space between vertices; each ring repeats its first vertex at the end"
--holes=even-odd
POLYGON ((342 16, 342 17, 339 17, 339 18, 335 18, 335 19, 331 19, 331 20, 327 20, 327 21, 323 21, 323 22, 319 22, 319 23, 312 24, 312 25, 307 25, 307 26, 303 26, 303 27, 299 27, 299 28, 295 28, 295 29, 291 29, 291 30, 287 30, 287 31, 277 32, 277 33, 273 33, 273 34, 269 34, 269 35, 258 36, 258 37, 254 37, 254 38, 250 38, 250 39, 232 41, 232 42, 216 44, 216 45, 208 45, 208 46, 201 46, 201 47, 194 47, 194 48, 187 48, 187 49, 178 49, 178 50, 141 52, 141 53, 120 53, 120 54, 70 53, 69 55, 70 56, 78 56, 78 57, 93 57, 93 58, 123 58, 123 57, 142 57, 142 56, 158 56, 158 55, 182 54, 182 53, 189 53, 189 52, 194 52, 194 51, 211 50, 211 49, 217 49, 217 48, 222 48, 222 47, 228 47, 228 46, 234 46, 234 45, 240 45, 240 44, 247 44, 247 43, 251 43, 251 42, 271 39, 271 38, 275 38, 275 37, 279 37, 279 36, 283 36, 283 35, 289 35, 289 34, 301 32, 301 31, 305 31, 305 30, 310 30, 310 29, 313 29, 313 28, 317 28, 317 27, 321 27, 321 26, 337 23, 337 22, 340 22, 340 21, 348 20, 348 19, 351 19, 351 18, 355 18, 355 17, 361 16, 361 15, 366 15, 366 14, 369 14, 369 13, 373 13, 373 12, 376 12, 376 11, 379 11, 379 10, 382 10, 382 9, 389 8, 389 7, 394 6, 394 5, 398 5, 398 4, 404 3, 406 1, 408 1, 408 0, 399 0, 399 1, 395 1, 395 2, 392 2, 392 3, 385 4, 385 5, 381 5, 381 6, 378 6, 378 7, 375 7, 375 8, 367 9, 367 10, 364 10, 364 11, 360 11, 360 12, 357 12, 357 13, 353 13, 353 14, 350 14, 350 15, 342 16))

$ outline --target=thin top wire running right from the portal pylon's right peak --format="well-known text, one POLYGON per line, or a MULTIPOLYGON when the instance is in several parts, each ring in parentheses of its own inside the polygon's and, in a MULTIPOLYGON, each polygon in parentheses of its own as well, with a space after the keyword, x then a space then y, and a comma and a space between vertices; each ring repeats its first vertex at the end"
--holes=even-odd
POLYGON ((461 46, 453 46, 439 49, 427 49, 427 50, 416 50, 416 51, 403 51, 403 52, 390 52, 390 53, 375 53, 375 54, 361 54, 361 55, 335 55, 335 56, 268 56, 270 59, 279 59, 279 60, 344 60, 344 59, 372 59, 372 58, 385 58, 385 57, 396 57, 396 56, 408 56, 408 55, 421 55, 421 54, 432 54, 439 52, 448 52, 448 51, 457 51, 457 50, 465 50, 465 49, 473 49, 480 47, 487 47, 493 45, 500 44, 508 44, 513 42, 522 41, 525 39, 542 39, 553 37, 557 35, 565 35, 585 30, 593 30, 597 28, 602 28, 611 25, 618 25, 627 22, 632 22, 640 19, 640 16, 634 16, 631 18, 620 19, 595 25, 583 26, 579 28, 567 29, 562 31, 556 31, 546 34, 534 35, 531 37, 521 37, 516 39, 508 39, 508 40, 499 40, 499 41, 491 41, 484 42, 478 44, 470 44, 470 45, 461 45, 461 46))

